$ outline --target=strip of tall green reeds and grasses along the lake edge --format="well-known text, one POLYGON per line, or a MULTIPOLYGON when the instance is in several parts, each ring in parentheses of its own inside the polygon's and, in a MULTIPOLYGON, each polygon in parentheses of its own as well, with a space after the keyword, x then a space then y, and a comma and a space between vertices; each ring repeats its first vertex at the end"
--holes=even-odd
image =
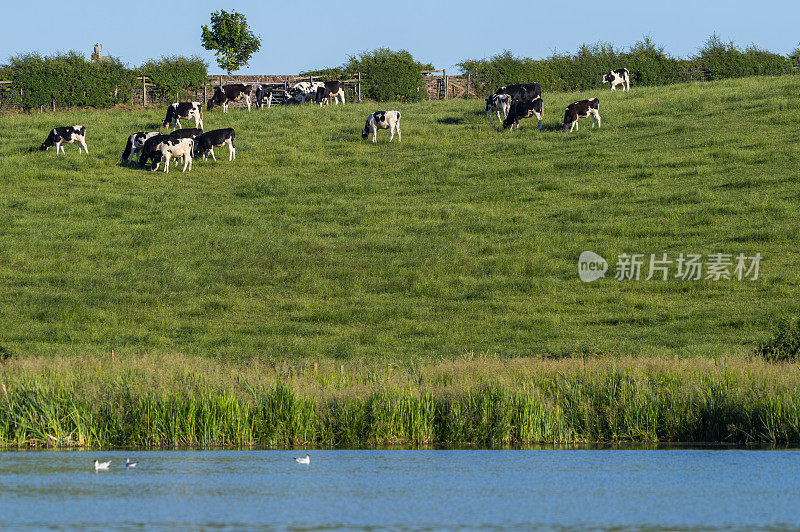
POLYGON ((800 442, 799 385, 797 367, 747 358, 11 359, 0 444, 788 444, 800 442))

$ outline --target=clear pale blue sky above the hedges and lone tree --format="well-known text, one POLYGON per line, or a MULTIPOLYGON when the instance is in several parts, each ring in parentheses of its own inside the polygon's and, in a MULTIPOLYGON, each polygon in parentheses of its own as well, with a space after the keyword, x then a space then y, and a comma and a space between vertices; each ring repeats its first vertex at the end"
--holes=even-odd
MULTIPOLYGON (((712 33, 745 47, 786 54, 800 43, 800 1, 748 2, 595 0, 592 2, 450 1, 153 1, 8 2, 0 19, 0 61, 22 52, 77 50, 95 42, 104 55, 132 66, 162 55, 199 55, 212 11, 237 10, 262 39, 250 67, 237 73, 294 74, 339 66, 349 55, 406 49, 436 68, 511 50, 523 57, 574 52, 584 42, 627 48, 650 35, 667 52, 687 57, 712 33)), ((455 72, 454 72, 455 73, 455 72)))

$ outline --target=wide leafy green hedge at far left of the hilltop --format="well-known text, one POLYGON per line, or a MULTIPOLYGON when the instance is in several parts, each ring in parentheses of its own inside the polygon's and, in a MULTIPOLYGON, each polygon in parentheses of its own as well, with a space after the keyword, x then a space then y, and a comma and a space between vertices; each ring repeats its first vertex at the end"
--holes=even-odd
POLYGON ((119 59, 87 61, 77 52, 43 57, 23 54, 6 66, 24 109, 54 102, 59 107, 111 107, 130 100, 134 71, 119 59))

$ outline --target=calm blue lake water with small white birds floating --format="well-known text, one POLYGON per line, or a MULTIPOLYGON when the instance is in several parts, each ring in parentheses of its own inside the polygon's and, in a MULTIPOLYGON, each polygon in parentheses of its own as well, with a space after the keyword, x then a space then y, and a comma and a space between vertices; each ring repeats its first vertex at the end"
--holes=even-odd
POLYGON ((0 452, 0 530, 800 530, 798 451, 310 453, 0 452))

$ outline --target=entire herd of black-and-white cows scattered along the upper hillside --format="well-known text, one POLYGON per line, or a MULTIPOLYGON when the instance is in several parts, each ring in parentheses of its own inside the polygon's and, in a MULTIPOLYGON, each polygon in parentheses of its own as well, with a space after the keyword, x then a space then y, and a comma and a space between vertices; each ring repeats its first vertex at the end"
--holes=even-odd
MULTIPOLYGON (((622 90, 630 90, 630 75, 628 70, 620 68, 612 70, 603 75, 603 83, 610 83, 611 90, 616 90, 617 85, 622 85, 622 90)), ((232 83, 217 87, 213 96, 207 102, 207 109, 210 111, 214 106, 222 107, 223 112, 228 111, 228 105, 234 101, 244 101, 248 111, 251 109, 252 99, 255 99, 256 107, 264 105, 265 98, 267 105, 272 104, 272 93, 262 85, 243 83, 232 83)), ((334 102, 338 105, 341 99, 344 104, 344 85, 341 81, 310 82, 303 81, 295 84, 286 91, 286 102, 284 103, 305 103, 314 101, 319 105, 334 102)), ((597 123, 600 127, 600 101, 597 98, 580 100, 567 106, 564 113, 564 121, 561 127, 564 131, 577 129, 578 119, 592 117, 592 127, 597 123)), ((503 120, 503 127, 519 129, 519 121, 523 118, 535 116, 539 121, 539 129, 542 129, 542 113, 544 104, 542 101, 542 88, 538 83, 522 83, 501 87, 497 92, 486 98, 486 110, 489 112, 489 123, 492 123, 492 116, 496 112, 497 118, 503 120)), ((203 110, 199 102, 178 102, 167 107, 167 116, 164 118, 163 126, 173 128, 169 134, 161 134, 159 131, 144 132, 140 131, 128 137, 125 150, 122 152, 122 163, 130 165, 138 155, 139 166, 145 167, 148 162, 150 169, 158 170, 161 162, 164 162, 164 171, 169 172, 169 163, 174 160, 177 164, 178 159, 183 160, 183 171, 187 168, 192 169, 192 159, 202 156, 207 159, 209 156, 216 161, 214 148, 224 145, 228 146, 228 161, 236 159, 236 147, 233 144, 236 132, 233 128, 215 129, 213 131, 203 131, 203 110), (181 120, 193 119, 194 128, 181 129, 181 120)), ((395 132, 398 140, 402 141, 400 132, 400 112, 399 111, 375 111, 367 117, 361 137, 366 139, 372 134, 372 142, 376 142, 378 129, 389 129, 391 135, 389 141, 394 139, 395 132)), ((78 153, 83 148, 89 153, 86 146, 86 128, 84 126, 65 126, 57 127, 50 131, 47 139, 42 143, 40 149, 47 150, 55 146, 56 153, 64 152, 64 143, 78 143, 78 153)))

